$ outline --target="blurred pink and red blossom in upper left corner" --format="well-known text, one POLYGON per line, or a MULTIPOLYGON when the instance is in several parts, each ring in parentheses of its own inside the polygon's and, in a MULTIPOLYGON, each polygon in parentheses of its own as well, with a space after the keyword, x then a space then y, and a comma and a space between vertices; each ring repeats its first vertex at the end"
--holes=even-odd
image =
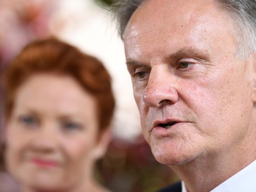
POLYGON ((49 35, 48 23, 57 0, 0 2, 0 67, 32 39, 49 35))

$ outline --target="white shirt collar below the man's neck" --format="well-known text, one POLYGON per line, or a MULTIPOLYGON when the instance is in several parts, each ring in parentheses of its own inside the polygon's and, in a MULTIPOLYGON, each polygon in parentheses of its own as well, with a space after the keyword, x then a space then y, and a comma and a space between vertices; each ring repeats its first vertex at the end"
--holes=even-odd
MULTIPOLYGON (((211 192, 256 192, 256 160, 215 187, 211 192)), ((182 192, 187 192, 181 181, 182 192)))

